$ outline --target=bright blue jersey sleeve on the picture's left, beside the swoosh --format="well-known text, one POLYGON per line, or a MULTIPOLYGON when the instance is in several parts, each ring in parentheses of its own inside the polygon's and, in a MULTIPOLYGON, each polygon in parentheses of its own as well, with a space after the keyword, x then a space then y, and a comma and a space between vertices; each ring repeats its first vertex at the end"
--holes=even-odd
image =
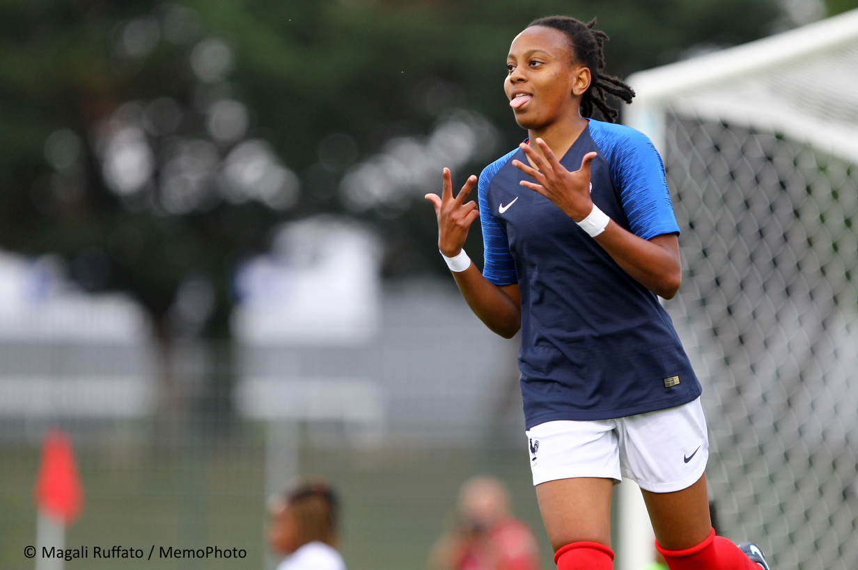
POLYGON ((477 183, 477 196, 480 205, 480 227, 483 233, 483 276, 494 285, 512 285, 518 283, 516 262, 510 253, 510 243, 504 228, 494 217, 486 200, 486 192, 494 175, 517 153, 517 149, 486 166, 477 183))

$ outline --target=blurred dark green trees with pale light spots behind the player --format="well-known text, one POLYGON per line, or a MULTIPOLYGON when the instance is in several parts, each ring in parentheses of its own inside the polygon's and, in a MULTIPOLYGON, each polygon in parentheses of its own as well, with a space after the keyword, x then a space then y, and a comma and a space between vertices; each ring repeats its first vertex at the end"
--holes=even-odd
MULTIPOLYGON (((554 13, 599 16, 615 75, 781 17, 775 0, 0 3, 0 247, 58 252, 82 286, 131 291, 165 336, 227 335, 237 261, 283 221, 347 213, 355 160, 451 107, 487 117, 503 148, 521 139, 506 50, 554 13)), ((446 271, 421 198, 353 215, 384 236, 388 276, 446 271)), ((479 259, 478 228, 470 241, 479 259)))

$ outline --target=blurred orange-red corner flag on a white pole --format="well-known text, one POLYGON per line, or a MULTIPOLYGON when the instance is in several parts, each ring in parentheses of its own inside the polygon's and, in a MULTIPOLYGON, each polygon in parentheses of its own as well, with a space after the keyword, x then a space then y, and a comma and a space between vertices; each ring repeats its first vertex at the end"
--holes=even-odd
POLYGON ((68 525, 81 513, 81 477, 69 436, 61 429, 51 429, 45 434, 35 498, 39 512, 63 525, 68 525))

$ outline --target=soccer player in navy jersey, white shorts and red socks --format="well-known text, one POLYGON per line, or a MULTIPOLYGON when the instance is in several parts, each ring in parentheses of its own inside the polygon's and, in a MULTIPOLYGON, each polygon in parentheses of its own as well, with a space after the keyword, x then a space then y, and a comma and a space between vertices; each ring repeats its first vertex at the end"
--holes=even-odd
POLYGON ((601 72, 594 24, 542 18, 512 41, 504 87, 529 139, 482 172, 479 206, 465 202, 477 177, 454 198, 444 169, 442 195, 426 195, 438 248, 486 326, 522 332, 530 465, 560 570, 612 567, 621 477, 643 490, 672 570, 768 570, 710 524, 700 384, 656 297, 679 289, 680 228, 655 147, 613 124, 606 93, 634 93, 601 72), (482 273, 462 249, 478 216, 482 273))

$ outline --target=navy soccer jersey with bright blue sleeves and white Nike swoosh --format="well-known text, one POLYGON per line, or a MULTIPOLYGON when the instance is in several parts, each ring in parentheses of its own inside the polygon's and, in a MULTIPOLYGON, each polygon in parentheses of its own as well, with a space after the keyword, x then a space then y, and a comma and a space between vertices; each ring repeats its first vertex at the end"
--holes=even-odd
MULTIPOLYGON (((560 163, 590 168, 594 203, 638 237, 679 233, 662 159, 650 140, 590 120, 560 163)), ((524 416, 528 429, 554 420, 626 417, 686 404, 701 392, 668 313, 573 219, 519 184, 517 149, 480 175, 483 274, 517 283, 522 298, 524 416)))

